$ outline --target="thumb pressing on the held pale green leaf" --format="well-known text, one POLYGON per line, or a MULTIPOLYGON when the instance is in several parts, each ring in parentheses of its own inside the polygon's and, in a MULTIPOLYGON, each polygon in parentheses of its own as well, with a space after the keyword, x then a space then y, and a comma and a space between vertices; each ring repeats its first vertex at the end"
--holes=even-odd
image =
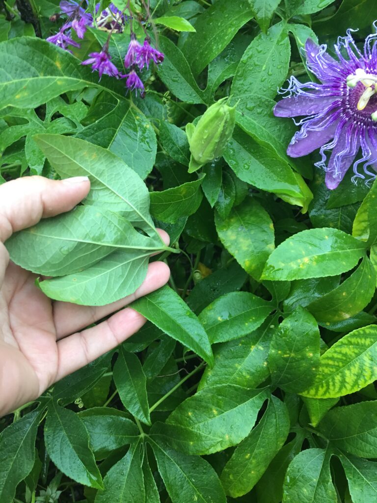
POLYGON ((0 186, 0 241, 41 218, 71 210, 89 192, 86 177, 49 180, 25 177, 0 186))

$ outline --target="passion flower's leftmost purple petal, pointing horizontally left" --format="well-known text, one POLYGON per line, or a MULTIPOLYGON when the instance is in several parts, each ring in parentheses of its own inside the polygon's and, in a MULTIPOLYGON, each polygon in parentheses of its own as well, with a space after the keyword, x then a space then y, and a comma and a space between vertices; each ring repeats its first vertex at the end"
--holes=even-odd
POLYGON ((276 103, 273 113, 277 117, 296 117, 297 115, 312 115, 322 112, 337 97, 329 96, 293 96, 292 98, 284 98, 276 103))

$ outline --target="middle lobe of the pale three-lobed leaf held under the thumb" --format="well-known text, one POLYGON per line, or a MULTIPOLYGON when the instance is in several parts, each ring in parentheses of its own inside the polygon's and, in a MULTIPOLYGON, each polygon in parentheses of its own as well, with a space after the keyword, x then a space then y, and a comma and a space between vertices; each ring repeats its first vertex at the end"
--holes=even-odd
POLYGON ((113 251, 161 249, 121 215, 105 207, 78 206, 69 213, 41 220, 7 240, 13 262, 37 274, 64 276, 87 269, 113 251))

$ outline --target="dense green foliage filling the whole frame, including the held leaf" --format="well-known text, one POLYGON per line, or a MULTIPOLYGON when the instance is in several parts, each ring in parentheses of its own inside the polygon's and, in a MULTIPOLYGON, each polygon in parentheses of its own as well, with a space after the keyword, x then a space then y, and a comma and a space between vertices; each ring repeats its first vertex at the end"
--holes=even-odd
MULTIPOLYGON (((377 184, 328 191, 272 113, 287 77, 313 77, 307 38, 361 43, 377 4, 151 0, 165 59, 144 99, 80 65, 104 32, 73 54, 43 40, 58 4, 30 2, 31 24, 0 2, 0 183, 92 190, 7 241, 11 258, 88 305, 132 293, 151 254, 172 274, 133 304, 138 333, 0 419, 1 503, 377 502, 377 184), (224 97, 233 136, 189 173, 185 126, 224 97)), ((127 24, 111 36, 119 65, 129 41, 127 24)))

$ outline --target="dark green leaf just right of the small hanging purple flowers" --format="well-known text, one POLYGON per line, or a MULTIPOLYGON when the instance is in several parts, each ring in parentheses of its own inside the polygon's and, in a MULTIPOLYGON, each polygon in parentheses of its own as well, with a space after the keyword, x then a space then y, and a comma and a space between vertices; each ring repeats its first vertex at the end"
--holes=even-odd
POLYGON ((158 42, 164 62, 157 66, 157 73, 165 86, 185 103, 204 103, 203 91, 182 52, 166 37, 159 36, 158 42))

